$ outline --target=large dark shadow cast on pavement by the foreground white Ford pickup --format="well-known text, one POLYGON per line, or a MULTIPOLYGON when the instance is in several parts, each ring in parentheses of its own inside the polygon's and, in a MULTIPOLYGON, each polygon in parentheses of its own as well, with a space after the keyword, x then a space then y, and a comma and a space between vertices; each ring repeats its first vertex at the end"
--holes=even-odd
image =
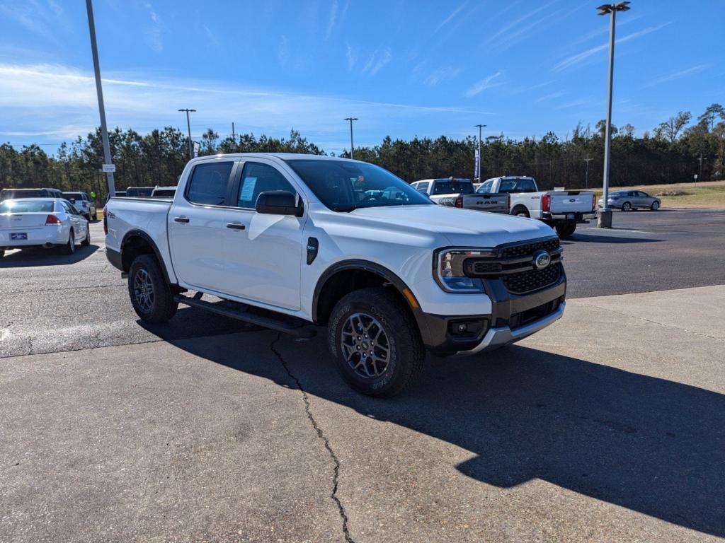
POLYGON ((377 400, 342 382, 322 337, 275 338, 249 332, 177 345, 295 387, 276 355, 244 355, 273 344, 308 394, 475 453, 457 466, 465 476, 504 488, 542 479, 725 536, 723 395, 512 346, 429 369, 399 397, 377 400))

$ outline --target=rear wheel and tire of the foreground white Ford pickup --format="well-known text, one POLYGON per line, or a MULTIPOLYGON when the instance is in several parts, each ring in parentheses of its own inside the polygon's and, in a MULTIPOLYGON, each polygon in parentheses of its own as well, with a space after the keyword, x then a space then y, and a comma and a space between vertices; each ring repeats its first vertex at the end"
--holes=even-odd
POLYGON ((174 316, 178 302, 152 255, 140 255, 128 270, 128 296, 144 322, 166 322, 174 316))

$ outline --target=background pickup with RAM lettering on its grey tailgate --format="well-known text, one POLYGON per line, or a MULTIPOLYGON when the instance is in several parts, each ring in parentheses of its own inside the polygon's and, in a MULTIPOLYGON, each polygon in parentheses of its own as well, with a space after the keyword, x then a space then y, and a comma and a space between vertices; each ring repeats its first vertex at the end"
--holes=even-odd
POLYGON ((426 179, 410 184, 411 187, 431 198, 439 206, 450 206, 491 213, 508 213, 508 194, 476 193, 470 179, 449 177, 447 179, 426 179))

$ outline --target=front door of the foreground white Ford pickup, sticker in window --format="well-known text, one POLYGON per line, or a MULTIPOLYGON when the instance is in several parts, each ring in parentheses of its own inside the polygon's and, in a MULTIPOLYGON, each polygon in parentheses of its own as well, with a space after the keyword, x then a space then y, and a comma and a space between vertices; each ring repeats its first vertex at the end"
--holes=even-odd
POLYGON ((220 290, 297 310, 305 216, 259 214, 254 206, 260 193, 268 190, 300 192, 273 161, 254 159, 239 166, 243 169, 235 188, 236 209, 225 211, 225 266, 220 290))

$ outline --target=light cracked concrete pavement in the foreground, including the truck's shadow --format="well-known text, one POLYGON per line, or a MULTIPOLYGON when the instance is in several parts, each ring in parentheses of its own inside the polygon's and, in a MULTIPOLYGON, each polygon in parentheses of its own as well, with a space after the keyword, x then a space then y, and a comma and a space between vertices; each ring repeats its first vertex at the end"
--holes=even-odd
POLYGON ((569 300, 393 400, 322 337, 3 358, 0 540, 719 540, 724 344, 715 286, 569 300))

